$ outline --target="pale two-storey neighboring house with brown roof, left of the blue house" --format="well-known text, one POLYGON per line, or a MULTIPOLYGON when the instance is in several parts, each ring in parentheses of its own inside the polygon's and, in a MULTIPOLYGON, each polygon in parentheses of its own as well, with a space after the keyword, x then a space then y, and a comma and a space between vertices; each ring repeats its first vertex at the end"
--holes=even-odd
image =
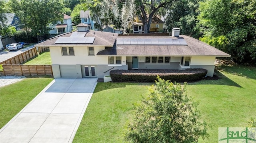
POLYGON ((63 15, 63 23, 59 21, 55 25, 48 26, 51 29, 49 31, 50 34, 63 34, 72 31, 73 27, 71 17, 66 14, 63 15))

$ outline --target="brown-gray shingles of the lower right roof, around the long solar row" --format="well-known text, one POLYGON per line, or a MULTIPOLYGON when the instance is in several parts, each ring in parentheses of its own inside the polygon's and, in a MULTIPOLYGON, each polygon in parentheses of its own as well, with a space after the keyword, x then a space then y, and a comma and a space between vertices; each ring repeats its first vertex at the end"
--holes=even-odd
MULTIPOLYGON (((123 37, 122 37, 123 38, 123 37)), ((128 37, 127 37, 128 38, 128 37)), ((149 37, 144 37, 149 38, 149 37)), ((152 37, 150 37, 152 38, 152 37)), ((160 38, 160 37, 158 37, 160 38)), ((166 37, 165 37, 166 38, 166 37)), ((224 53, 202 41, 195 38, 180 35, 180 37, 170 38, 184 38, 188 45, 116 45, 111 49, 105 49, 98 52, 97 55, 168 55, 168 56, 216 56, 216 57, 230 57, 229 54, 224 53)))

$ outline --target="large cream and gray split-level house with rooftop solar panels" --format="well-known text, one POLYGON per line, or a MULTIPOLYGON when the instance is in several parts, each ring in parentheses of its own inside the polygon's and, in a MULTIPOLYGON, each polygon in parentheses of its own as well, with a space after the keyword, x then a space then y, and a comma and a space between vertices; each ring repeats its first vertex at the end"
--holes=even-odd
POLYGON ((114 69, 207 69, 216 57, 230 57, 198 39, 179 35, 131 37, 103 31, 76 31, 38 43, 49 47, 54 78, 103 78, 114 69))

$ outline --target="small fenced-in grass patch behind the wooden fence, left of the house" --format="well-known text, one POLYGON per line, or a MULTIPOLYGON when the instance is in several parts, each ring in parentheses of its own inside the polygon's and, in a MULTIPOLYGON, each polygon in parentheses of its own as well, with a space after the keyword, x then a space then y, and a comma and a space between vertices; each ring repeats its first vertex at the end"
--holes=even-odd
POLYGON ((23 65, 52 65, 50 51, 45 51, 40 55, 26 61, 23 65))

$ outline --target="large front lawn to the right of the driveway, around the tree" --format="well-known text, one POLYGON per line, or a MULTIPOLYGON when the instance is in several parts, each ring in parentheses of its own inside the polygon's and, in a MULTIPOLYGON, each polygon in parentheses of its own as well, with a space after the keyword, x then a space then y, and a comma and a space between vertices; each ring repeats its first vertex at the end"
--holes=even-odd
MULTIPOLYGON (((218 142, 218 127, 246 127, 256 118, 256 68, 223 66, 220 79, 188 83, 187 93, 200 101, 198 109, 211 127, 209 138, 199 143, 218 142)), ((125 142, 125 126, 134 115, 134 103, 148 94, 150 84, 98 83, 78 128, 74 143, 125 142)))

